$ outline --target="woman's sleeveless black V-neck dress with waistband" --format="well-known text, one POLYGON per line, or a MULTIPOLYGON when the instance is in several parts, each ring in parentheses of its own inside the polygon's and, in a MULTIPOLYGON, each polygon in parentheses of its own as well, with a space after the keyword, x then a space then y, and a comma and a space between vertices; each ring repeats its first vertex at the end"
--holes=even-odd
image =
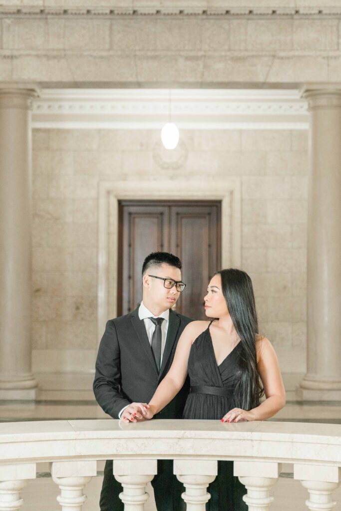
MULTIPOLYGON (((218 366, 210 325, 191 346, 188 374, 191 388, 194 387, 197 392, 189 394, 183 419, 220 420, 232 408, 240 407, 238 400, 234 398, 233 389, 239 375, 238 357, 241 345, 238 343, 218 366), (226 395, 201 393, 198 387, 202 386, 224 388, 226 395)), ((218 461, 218 476, 209 485, 208 491, 211 498, 206 504, 207 511, 247 511, 247 505, 242 500, 242 496, 246 494, 245 486, 233 475, 233 461, 218 461)))

